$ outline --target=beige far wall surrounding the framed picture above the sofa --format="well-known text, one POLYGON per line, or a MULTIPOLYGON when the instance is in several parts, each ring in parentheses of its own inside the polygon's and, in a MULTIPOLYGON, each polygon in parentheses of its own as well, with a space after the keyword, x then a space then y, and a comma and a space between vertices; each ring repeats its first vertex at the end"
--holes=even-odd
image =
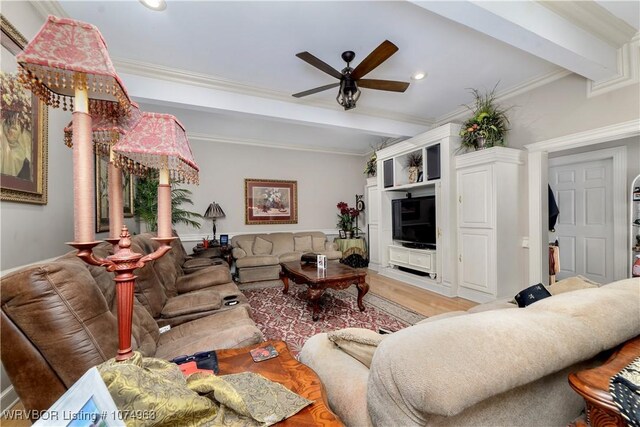
MULTIPOLYGON (((304 135, 300 136, 301 138, 304 135)), ((243 144, 191 140, 200 166, 200 185, 193 191, 193 207, 203 214, 215 201, 226 217, 217 220, 217 235, 290 230, 336 229, 336 204, 355 204, 363 194, 364 158, 311 151, 284 150, 243 144), (293 180, 298 183, 298 223, 246 225, 244 218, 244 179, 293 180)), ((176 227, 181 235, 211 235, 211 220, 203 220, 200 230, 176 227)))

